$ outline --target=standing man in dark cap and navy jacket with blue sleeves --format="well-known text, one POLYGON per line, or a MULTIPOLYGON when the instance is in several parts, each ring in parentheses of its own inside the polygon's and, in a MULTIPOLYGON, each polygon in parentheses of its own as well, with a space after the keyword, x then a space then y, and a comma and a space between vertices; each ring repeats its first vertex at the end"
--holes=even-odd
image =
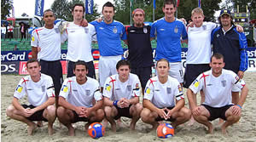
MULTIPOLYGON (((218 17, 220 27, 212 31, 213 54, 224 55, 224 69, 234 71, 242 79, 247 70, 247 38, 236 31, 230 10, 221 10, 218 17)), ((232 102, 238 103, 240 88, 232 88, 232 102)))

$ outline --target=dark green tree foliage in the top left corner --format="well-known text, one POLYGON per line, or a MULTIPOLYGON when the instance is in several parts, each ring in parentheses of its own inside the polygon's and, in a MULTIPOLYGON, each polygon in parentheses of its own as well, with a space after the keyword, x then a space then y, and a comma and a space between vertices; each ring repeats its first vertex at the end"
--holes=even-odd
POLYGON ((12 0, 2 0, 1 1, 1 20, 6 20, 7 16, 9 16, 10 12, 13 7, 12 0))

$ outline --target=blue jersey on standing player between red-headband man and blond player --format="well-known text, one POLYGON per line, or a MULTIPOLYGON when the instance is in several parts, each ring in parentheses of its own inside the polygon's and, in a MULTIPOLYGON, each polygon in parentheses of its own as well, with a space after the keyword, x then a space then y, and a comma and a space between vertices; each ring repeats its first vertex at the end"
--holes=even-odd
POLYGON ((155 60, 166 59, 169 62, 181 61, 181 39, 188 38, 185 26, 181 20, 167 22, 165 18, 156 20, 150 31, 150 37, 157 36, 155 60))

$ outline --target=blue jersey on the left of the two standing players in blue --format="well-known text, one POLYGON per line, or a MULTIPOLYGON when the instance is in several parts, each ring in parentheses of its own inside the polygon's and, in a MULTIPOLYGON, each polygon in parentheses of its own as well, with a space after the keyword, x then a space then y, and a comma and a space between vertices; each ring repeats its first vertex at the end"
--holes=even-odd
POLYGON ((115 56, 124 53, 121 39, 126 38, 125 26, 119 21, 113 20, 112 23, 90 22, 96 28, 97 42, 102 56, 115 56))

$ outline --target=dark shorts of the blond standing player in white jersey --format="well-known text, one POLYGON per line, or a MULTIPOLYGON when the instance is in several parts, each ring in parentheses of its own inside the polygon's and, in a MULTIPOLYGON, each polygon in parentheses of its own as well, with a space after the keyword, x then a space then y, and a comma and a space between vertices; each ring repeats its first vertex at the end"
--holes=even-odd
POLYGON ((195 81, 202 72, 211 70, 209 64, 187 64, 183 87, 189 88, 190 84, 195 81))

